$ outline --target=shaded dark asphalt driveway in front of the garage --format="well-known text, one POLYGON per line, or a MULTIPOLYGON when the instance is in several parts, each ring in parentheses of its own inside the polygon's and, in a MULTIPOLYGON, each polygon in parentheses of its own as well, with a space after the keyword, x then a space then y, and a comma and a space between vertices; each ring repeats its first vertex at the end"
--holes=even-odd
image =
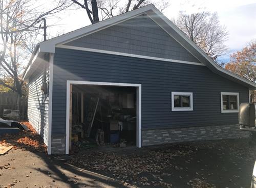
POLYGON ((70 163, 139 187, 250 187, 255 140, 229 139, 74 153, 70 163))

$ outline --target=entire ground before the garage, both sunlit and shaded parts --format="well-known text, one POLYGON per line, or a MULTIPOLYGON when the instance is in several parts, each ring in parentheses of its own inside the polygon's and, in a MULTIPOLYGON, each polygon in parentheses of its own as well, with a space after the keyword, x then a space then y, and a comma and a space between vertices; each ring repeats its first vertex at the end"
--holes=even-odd
POLYGON ((63 157, 48 156, 33 131, 16 136, 4 137, 15 147, 0 156, 0 187, 250 187, 256 158, 251 139, 92 148, 63 157))

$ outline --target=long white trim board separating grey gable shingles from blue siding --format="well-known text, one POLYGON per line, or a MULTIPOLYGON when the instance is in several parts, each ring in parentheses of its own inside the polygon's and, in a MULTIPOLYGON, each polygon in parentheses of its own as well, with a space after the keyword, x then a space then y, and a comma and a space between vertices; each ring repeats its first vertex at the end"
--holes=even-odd
POLYGON ((112 54, 112 55, 118 55, 118 56, 127 56, 127 57, 135 57, 135 58, 142 58, 142 59, 167 61, 167 62, 173 62, 173 63, 184 63, 184 64, 193 64, 193 65, 205 66, 203 63, 198 63, 198 62, 182 61, 182 60, 176 60, 176 59, 165 59, 165 58, 152 57, 152 56, 143 56, 143 55, 122 53, 122 52, 90 49, 90 48, 83 48, 83 47, 71 46, 71 45, 57 45, 56 47, 57 48, 62 48, 62 49, 80 50, 80 51, 87 51, 87 52, 97 52, 97 53, 112 54))

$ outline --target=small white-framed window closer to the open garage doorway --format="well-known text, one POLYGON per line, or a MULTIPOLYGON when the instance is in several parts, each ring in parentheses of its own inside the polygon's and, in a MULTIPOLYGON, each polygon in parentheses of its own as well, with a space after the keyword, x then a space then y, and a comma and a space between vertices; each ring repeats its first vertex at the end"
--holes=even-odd
POLYGON ((172 92, 172 111, 193 111, 193 93, 172 92))

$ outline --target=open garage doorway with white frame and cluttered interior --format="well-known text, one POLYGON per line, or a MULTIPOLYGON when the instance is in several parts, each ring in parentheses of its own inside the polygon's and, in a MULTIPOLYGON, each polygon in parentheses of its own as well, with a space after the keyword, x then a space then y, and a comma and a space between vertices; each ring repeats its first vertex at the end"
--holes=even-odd
POLYGON ((96 146, 141 147, 141 85, 67 82, 66 154, 96 146))

